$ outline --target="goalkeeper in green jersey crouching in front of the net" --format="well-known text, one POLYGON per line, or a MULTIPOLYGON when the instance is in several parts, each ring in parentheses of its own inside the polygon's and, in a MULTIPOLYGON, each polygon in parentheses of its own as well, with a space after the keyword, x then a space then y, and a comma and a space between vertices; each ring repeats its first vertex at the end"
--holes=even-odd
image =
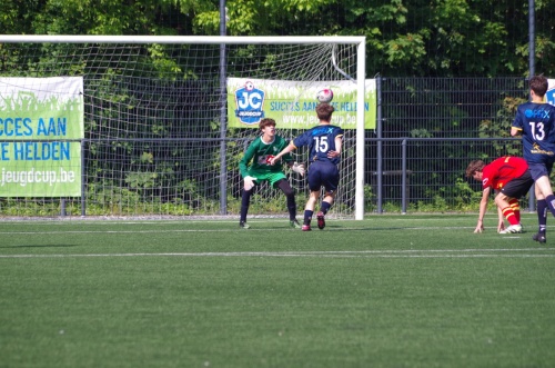
MULTIPOLYGON (((273 188, 281 189, 287 198, 289 220, 291 227, 301 228, 301 225, 296 220, 295 190, 291 188, 291 185, 283 172, 282 166, 270 165, 270 160, 275 155, 280 153, 282 149, 287 147, 287 141, 275 135, 274 119, 262 119, 259 123, 259 128, 262 131, 262 136, 249 145, 243 159, 239 162, 241 177, 244 181, 239 226, 243 229, 249 229, 249 225, 246 223, 246 213, 249 212, 249 206, 251 203, 251 196, 254 192, 254 187, 260 185, 262 181, 268 180, 273 188)), ((291 155, 284 156, 283 160, 293 171, 304 176, 304 165, 293 162, 291 155)))

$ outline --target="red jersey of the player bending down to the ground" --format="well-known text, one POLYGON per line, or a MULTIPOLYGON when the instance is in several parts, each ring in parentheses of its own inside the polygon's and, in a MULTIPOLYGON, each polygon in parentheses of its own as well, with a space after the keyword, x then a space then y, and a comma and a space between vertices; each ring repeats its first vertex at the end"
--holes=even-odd
POLYGON ((482 188, 503 188, 507 182, 519 178, 528 169, 528 163, 522 157, 505 156, 484 166, 482 170, 482 188))

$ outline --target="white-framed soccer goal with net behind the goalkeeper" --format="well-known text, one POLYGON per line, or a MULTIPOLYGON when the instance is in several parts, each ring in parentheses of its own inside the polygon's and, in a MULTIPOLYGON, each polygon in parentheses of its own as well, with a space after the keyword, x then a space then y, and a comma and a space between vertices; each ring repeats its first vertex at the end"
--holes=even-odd
MULTIPOLYGON (((364 37, 0 36, 0 215, 239 215, 258 121, 297 136, 322 88, 345 130, 330 216, 362 219, 364 37)), ((302 213, 306 180, 286 173, 302 213)), ((249 215, 285 213, 261 186, 249 215)))

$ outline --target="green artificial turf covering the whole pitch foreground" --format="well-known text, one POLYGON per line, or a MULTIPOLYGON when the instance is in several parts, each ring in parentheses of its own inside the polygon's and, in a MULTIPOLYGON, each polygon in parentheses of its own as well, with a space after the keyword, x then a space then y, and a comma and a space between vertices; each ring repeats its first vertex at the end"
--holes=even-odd
POLYGON ((475 221, 2 222, 0 367, 554 367, 555 236, 475 221))

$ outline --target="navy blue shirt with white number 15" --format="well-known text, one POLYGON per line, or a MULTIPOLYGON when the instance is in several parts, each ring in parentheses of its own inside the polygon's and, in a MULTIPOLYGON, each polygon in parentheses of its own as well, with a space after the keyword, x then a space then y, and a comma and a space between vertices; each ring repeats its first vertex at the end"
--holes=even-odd
POLYGON ((327 152, 335 151, 335 137, 343 137, 343 129, 336 126, 316 126, 306 130, 293 140, 293 145, 299 148, 307 146, 310 148, 310 160, 340 163, 340 157, 329 158, 327 152))

